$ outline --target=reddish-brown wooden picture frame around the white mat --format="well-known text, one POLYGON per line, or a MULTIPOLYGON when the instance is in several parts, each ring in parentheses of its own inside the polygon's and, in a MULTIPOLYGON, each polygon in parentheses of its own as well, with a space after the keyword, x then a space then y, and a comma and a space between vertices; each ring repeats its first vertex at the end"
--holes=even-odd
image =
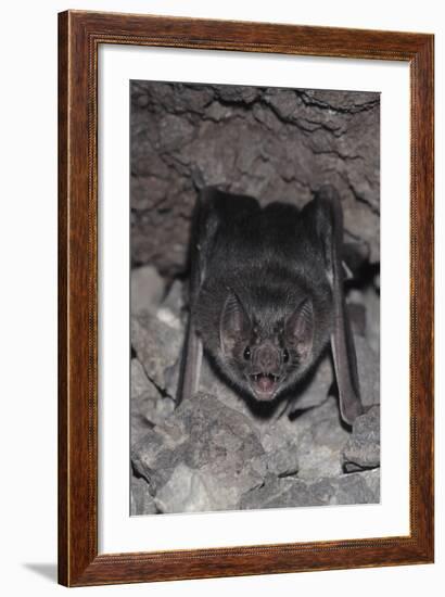
POLYGON ((412 33, 78 11, 59 15, 60 583, 79 586, 433 561, 433 47, 432 35, 412 33), (98 554, 97 80, 100 43, 409 63, 409 536, 98 554))

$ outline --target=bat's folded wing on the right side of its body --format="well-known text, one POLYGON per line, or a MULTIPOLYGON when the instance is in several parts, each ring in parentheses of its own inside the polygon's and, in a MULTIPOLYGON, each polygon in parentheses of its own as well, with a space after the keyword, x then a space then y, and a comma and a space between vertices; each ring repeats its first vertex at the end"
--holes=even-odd
POLYGON ((363 414, 357 373, 357 358, 343 292, 343 212, 338 191, 322 187, 313 202, 315 227, 321 243, 326 271, 333 296, 331 347, 339 388, 342 418, 352 424, 363 414))

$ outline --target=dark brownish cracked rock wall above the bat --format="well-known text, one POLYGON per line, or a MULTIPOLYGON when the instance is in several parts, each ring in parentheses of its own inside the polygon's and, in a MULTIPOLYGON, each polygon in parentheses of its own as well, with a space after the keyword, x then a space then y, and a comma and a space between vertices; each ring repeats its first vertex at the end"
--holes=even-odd
POLYGON ((154 81, 130 92, 134 264, 185 271, 204 186, 303 205, 325 182, 343 198, 346 238, 379 261, 378 93, 154 81))

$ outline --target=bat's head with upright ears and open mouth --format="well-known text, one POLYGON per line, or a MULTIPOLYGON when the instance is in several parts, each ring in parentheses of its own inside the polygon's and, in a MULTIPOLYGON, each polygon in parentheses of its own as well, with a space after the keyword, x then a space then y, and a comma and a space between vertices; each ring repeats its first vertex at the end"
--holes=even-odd
POLYGON ((272 317, 249 313, 230 291, 219 322, 225 369, 255 399, 272 401, 313 360, 314 310, 309 297, 272 317))

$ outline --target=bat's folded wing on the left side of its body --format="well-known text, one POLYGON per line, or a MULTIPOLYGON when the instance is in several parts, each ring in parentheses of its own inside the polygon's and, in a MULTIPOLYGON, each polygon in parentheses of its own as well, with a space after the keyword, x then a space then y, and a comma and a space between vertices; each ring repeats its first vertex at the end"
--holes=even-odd
MULTIPOLYGON (((218 228, 218 214, 215 208, 216 189, 204 189, 198 198, 193 213, 190 244, 190 312, 194 305, 201 285, 205 279, 206 268, 218 228)), ((177 405, 189 399, 198 390, 202 361, 202 342, 189 317, 186 342, 182 350, 181 371, 179 377, 177 405)))

